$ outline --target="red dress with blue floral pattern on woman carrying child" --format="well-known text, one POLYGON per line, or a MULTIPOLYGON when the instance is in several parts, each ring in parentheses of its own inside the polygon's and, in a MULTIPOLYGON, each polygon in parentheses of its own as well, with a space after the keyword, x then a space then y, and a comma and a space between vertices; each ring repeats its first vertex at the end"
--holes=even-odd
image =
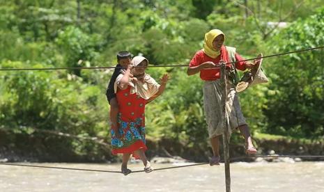
MULTIPOLYGON (((136 93, 130 94, 130 86, 116 93, 119 105, 118 122, 121 138, 116 138, 111 129, 112 154, 132 153, 139 149, 147 150, 145 145, 145 104, 146 99, 136 93)), ((138 157, 134 156, 138 159, 138 157)))

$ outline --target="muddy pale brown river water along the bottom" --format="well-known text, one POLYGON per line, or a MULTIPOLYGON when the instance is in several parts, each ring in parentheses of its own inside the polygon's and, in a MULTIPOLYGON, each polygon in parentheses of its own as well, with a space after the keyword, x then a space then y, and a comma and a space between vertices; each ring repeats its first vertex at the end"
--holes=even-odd
MULTIPOLYGON (((27 165, 119 170, 120 164, 26 163, 27 165)), ((154 168, 180 166, 153 164, 154 168)), ((142 170, 140 163, 129 165, 142 170)), ((0 191, 225 191, 224 164, 156 170, 152 173, 100 173, 0 165, 0 191)), ((231 163, 231 191, 323 191, 324 162, 231 163)))

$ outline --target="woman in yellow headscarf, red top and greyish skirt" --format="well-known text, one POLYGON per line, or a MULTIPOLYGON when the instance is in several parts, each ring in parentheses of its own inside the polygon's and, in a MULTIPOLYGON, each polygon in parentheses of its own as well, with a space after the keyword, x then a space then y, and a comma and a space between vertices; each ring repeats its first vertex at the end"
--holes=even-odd
MULTIPOLYGON (((229 115, 231 129, 240 129, 245 138, 245 148, 248 154, 255 154, 256 148, 252 143, 249 127, 240 109, 238 95, 235 90, 234 75, 235 70, 246 70, 253 67, 253 63, 243 62, 243 58, 236 53, 236 48, 224 46, 225 35, 219 29, 213 29, 205 34, 203 49, 196 52, 189 67, 187 74, 192 75, 200 72, 200 78, 204 81, 203 85, 203 105, 208 124, 208 134, 213 148, 213 157, 210 159, 210 166, 219 165, 219 136, 224 133, 224 112, 222 110, 221 96, 224 86, 219 81, 220 70, 215 68, 219 61, 226 63, 236 61, 235 65, 226 65, 226 71, 229 71, 227 83, 229 84, 226 99, 226 113, 229 115)), ((231 133, 231 129, 229 130, 231 133)))

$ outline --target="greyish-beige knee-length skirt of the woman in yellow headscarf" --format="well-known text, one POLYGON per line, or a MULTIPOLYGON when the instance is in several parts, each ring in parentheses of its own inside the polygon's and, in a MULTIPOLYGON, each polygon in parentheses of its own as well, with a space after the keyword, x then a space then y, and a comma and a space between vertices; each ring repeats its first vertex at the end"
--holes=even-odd
MULTIPOLYGON (((238 95, 236 90, 232 88, 231 82, 227 83, 227 101, 226 101, 226 115, 229 118, 229 133, 232 129, 236 129, 241 125, 247 125, 245 118, 240 108, 238 95)), ((215 81, 205 81, 203 85, 203 107, 206 114, 206 122, 208 125, 209 138, 219 136, 225 130, 224 109, 222 109, 222 93, 224 86, 222 81, 217 79, 215 81)))

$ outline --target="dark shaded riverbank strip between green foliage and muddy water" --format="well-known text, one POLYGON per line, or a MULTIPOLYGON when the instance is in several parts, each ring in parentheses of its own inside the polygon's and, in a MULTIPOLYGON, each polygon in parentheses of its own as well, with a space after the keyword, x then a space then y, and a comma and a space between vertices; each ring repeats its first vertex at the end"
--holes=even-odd
MULTIPOLYGON (((101 142, 104 143, 104 142, 101 142)), ((323 142, 285 139, 256 139, 261 155, 324 155, 323 142)), ((147 139, 147 156, 155 163, 207 162, 212 152, 208 143, 185 145, 178 141, 147 139)), ((221 146, 222 149, 222 146, 221 146)), ((324 161, 324 158, 254 158, 244 147, 231 143, 233 161, 324 161)), ((222 152, 221 152, 222 154, 222 152)), ((0 162, 116 162, 109 145, 45 133, 13 133, 0 130, 0 162)))

